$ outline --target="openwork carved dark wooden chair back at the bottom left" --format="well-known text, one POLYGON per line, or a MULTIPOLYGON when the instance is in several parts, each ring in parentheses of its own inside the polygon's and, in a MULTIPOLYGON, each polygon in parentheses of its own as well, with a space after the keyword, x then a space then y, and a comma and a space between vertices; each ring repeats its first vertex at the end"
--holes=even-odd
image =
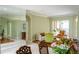
POLYGON ((22 46, 16 51, 16 54, 32 54, 31 48, 29 46, 22 46))

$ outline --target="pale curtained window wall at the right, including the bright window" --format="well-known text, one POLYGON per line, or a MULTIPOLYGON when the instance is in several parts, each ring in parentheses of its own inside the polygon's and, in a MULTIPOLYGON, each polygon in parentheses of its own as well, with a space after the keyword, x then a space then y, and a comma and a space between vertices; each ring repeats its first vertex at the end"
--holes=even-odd
POLYGON ((79 16, 53 17, 51 18, 51 31, 64 30, 69 37, 77 38, 79 35, 79 16))

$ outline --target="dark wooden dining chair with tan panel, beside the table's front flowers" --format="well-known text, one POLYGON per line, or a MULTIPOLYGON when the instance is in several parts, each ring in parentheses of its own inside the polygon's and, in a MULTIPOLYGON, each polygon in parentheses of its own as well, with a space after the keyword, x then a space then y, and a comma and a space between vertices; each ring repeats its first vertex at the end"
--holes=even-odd
POLYGON ((39 44, 39 52, 40 54, 49 54, 48 46, 44 41, 40 42, 39 44))

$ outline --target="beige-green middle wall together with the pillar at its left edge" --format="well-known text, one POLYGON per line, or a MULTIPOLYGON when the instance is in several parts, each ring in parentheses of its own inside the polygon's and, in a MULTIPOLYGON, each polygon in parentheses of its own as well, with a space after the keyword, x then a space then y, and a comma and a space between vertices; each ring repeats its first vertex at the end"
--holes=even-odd
POLYGON ((50 32, 49 18, 30 14, 29 23, 29 40, 35 39, 35 35, 41 32, 50 32))

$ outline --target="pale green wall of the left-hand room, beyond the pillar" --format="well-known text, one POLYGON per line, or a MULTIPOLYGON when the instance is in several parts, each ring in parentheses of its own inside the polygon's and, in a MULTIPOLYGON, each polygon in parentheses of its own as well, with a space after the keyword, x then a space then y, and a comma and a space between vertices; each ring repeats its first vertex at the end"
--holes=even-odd
MULTIPOLYGON (((11 20, 11 18, 0 17, 0 25, 4 28, 4 36, 12 39, 21 39, 21 33, 23 31, 23 24, 26 21, 21 20, 11 20), (10 34, 10 24, 11 23, 11 34, 10 34)), ((1 28, 1 27, 0 27, 1 28)), ((2 32, 2 28, 0 29, 0 33, 2 32)))

